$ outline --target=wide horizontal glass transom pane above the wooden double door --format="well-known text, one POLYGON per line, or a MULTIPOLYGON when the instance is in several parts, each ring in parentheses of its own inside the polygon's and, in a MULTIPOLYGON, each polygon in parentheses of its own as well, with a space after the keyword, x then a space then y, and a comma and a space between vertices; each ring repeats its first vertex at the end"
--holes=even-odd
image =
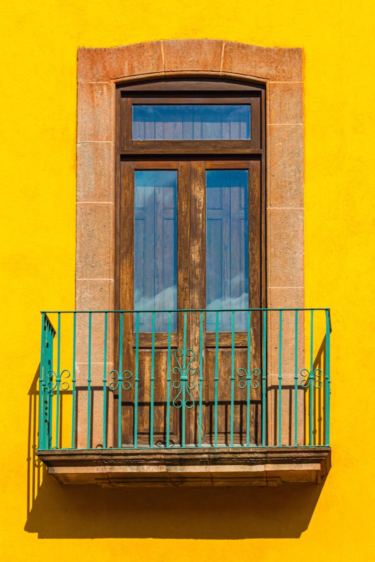
POLYGON ((134 105, 134 140, 250 139, 250 105, 134 105))

